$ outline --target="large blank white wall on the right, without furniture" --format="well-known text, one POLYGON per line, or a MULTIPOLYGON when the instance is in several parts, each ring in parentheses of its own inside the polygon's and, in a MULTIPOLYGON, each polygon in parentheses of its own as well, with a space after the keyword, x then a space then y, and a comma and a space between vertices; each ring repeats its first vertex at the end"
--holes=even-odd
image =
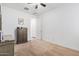
POLYGON ((79 4, 63 4, 40 17, 44 40, 79 50, 79 4))

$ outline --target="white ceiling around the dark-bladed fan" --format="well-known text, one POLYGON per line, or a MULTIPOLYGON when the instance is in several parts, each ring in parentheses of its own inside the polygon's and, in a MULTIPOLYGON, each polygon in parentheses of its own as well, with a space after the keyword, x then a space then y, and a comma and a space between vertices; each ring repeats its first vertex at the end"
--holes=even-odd
POLYGON ((46 4, 46 7, 42 7, 39 5, 38 9, 35 9, 35 4, 39 3, 33 3, 31 5, 27 3, 3 3, 3 5, 9 7, 9 8, 14 8, 29 14, 33 15, 41 15, 43 13, 46 13, 47 11, 50 11, 58 6, 60 6, 62 3, 44 3, 46 4), (29 8, 29 10, 24 10, 24 7, 29 8))

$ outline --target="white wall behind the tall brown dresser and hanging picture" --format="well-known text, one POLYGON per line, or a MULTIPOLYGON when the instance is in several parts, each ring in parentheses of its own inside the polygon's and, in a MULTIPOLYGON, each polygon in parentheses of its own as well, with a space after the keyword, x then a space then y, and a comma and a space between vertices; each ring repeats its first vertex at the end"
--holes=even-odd
POLYGON ((15 39, 15 30, 18 25, 18 17, 24 18, 23 27, 28 28, 28 40, 31 39, 31 19, 35 18, 25 12, 2 6, 2 31, 3 35, 12 35, 15 39))

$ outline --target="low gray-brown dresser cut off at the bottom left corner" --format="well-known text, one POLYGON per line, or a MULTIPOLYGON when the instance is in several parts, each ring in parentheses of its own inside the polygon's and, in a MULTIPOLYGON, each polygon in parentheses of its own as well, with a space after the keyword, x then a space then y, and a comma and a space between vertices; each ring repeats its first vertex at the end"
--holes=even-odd
POLYGON ((0 56, 14 56, 14 40, 0 43, 0 56))

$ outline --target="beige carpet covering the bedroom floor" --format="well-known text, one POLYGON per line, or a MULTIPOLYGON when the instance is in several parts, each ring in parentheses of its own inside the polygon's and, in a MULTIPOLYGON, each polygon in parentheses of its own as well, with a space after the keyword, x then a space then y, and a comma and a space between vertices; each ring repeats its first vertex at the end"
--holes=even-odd
POLYGON ((79 56, 79 51, 64 48, 44 40, 16 44, 16 56, 79 56))

